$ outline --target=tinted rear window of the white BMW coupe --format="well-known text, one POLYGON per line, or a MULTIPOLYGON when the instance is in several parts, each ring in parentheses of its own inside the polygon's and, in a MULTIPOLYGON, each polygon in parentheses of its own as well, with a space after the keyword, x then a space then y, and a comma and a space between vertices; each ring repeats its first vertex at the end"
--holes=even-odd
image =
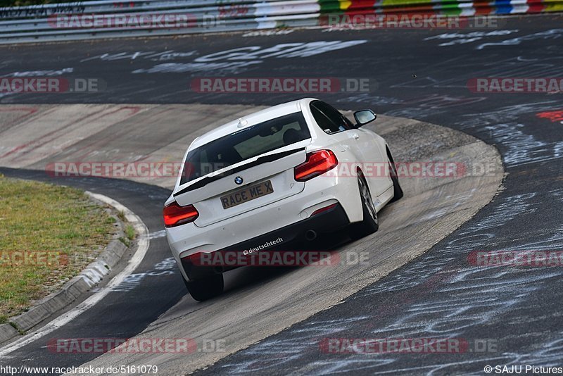
POLYGON ((246 127, 190 151, 180 184, 310 137, 301 111, 246 127))

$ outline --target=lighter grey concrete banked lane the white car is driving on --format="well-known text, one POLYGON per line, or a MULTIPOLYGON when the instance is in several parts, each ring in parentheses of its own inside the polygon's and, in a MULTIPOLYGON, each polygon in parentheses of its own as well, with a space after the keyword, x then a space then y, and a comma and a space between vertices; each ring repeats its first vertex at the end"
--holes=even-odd
MULTIPOLYGON (((224 123, 227 119, 237 118, 243 113, 254 111, 255 108, 202 104, 131 104, 7 105, 3 110, 0 113, 2 121, 9 124, 3 136, 10 142, 0 141, 0 148, 9 149, 2 154, 0 164, 20 168, 4 170, 7 175, 72 184, 113 196, 115 192, 107 190, 108 187, 115 188, 115 180, 75 180, 75 177, 61 179, 52 171, 46 173, 45 170, 50 163, 120 162, 129 161, 132 156, 134 161, 145 163, 175 161, 178 155, 184 153, 185 145, 189 144, 196 134, 204 132, 205 128, 213 127, 213 123, 224 123), (30 112, 32 115, 22 115, 30 112), (158 137, 153 134, 153 120, 157 117, 165 125, 159 128, 158 137), (201 128, 202 122, 209 122, 210 125, 201 128), (133 139, 131 134, 135 134, 133 139), (183 134, 183 137, 176 139, 173 137, 176 134, 183 134), (18 145, 22 137, 25 143, 18 145), (32 169, 37 170, 37 173, 30 173, 32 169)), ((149 321, 150 324, 144 322, 148 327, 136 336, 137 339, 191 338, 196 339, 199 351, 159 353, 158 358, 150 351, 108 353, 96 358, 93 361, 95 365, 90 362, 88 366, 107 369, 110 366, 150 363, 158 365, 160 372, 166 372, 167 375, 181 375, 203 368, 228 353, 244 349, 255 341, 276 334, 310 315, 336 305, 362 287, 424 253, 491 201, 502 181, 502 162, 498 151, 493 146, 462 132, 386 115, 380 115, 377 122, 366 127, 377 128, 377 132, 385 137, 393 150, 397 161, 444 161, 447 158, 450 163, 466 165, 486 161, 494 167, 494 173, 462 173, 440 178, 401 178, 405 197, 379 212, 381 228, 377 236, 347 242, 346 232, 341 232, 330 236, 323 235, 319 242, 308 244, 309 248, 315 246, 316 249, 332 251, 336 260, 340 261, 331 264, 330 268, 241 268, 226 273, 225 292, 220 298, 196 303, 186 294, 170 309, 167 309, 167 299, 175 299, 178 289, 182 287, 175 285, 170 289, 160 290, 160 279, 164 275, 172 277, 177 273, 177 268, 170 262, 170 250, 167 245, 156 241, 163 237, 158 224, 156 230, 149 225, 147 231, 150 232, 151 239, 148 254, 151 257, 148 261, 151 263, 139 265, 117 286, 112 283, 115 287, 103 284, 92 289, 94 294, 91 294, 91 299, 102 299, 106 303, 109 294, 111 297, 107 302, 111 303, 121 301, 122 295, 127 296, 127 299, 143 296, 141 305, 150 305, 151 313, 163 314, 153 322, 149 321), (413 144, 417 147, 412 148, 413 144), (365 255, 362 263, 355 261, 360 254, 365 255), (374 267, 375 265, 377 267, 374 267), (156 294, 160 299, 152 299, 151 294, 145 295, 148 291, 147 284, 152 285, 153 280, 159 281, 156 283, 159 289, 156 294), (253 317, 251 326, 247 321, 249 316, 253 317), (210 317, 213 317, 213 320, 209 320, 210 317), (210 351, 209 343, 215 344, 219 343, 218 341, 222 344, 221 351, 216 351, 214 347, 211 347, 210 351)), ((165 177, 127 176, 127 179, 132 178, 162 187, 170 187, 175 180, 173 174, 165 177)), ((160 217, 162 203, 153 207, 150 201, 146 201, 146 193, 132 195, 131 192, 144 192, 146 189, 144 184, 139 187, 136 184, 127 180, 119 181, 118 186, 124 187, 126 191, 120 197, 125 197, 127 206, 136 212, 139 205, 145 206, 139 211, 139 216, 141 220, 147 217, 147 223, 152 224, 155 218, 160 217), (134 200, 131 200, 132 197, 134 200)), ((148 198, 150 199, 151 195, 148 195, 148 198)), ((112 271, 115 273, 116 270, 112 271)), ((73 309, 80 309, 79 307, 80 305, 73 309)), ((95 338, 122 338, 125 336, 118 334, 139 332, 137 325, 143 320, 131 315, 136 315, 140 309, 142 308, 130 303, 112 304, 111 320, 117 327, 107 325, 103 321, 103 330, 96 328, 96 335, 103 337, 95 338), (122 317, 132 320, 115 320, 122 317)), ((56 315, 65 318, 67 315, 74 315, 74 312, 56 315)), ((6 356, 8 364, 29 362, 34 366, 51 367, 61 367, 61 363, 67 366, 80 365, 84 358, 95 357, 96 354, 101 354, 101 351, 84 350, 90 357, 74 356, 74 351, 57 352, 52 348, 51 351, 46 351, 46 346, 56 339, 84 338, 82 326, 89 325, 89 322, 102 321, 98 310, 88 309, 78 317, 80 320, 73 319, 72 323, 80 325, 67 326, 54 321, 54 324, 49 322, 44 329, 39 324, 37 332, 31 329, 29 334, 1 348, 0 356, 6 356), (64 330, 53 331, 53 325, 64 330), (61 334, 65 337, 59 337, 61 334)))

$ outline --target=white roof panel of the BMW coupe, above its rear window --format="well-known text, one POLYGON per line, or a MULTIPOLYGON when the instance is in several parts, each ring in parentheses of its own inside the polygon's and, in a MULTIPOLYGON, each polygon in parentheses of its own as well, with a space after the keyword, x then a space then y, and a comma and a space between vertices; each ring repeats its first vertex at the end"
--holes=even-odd
POLYGON ((264 108, 263 110, 257 111, 255 113, 244 115, 242 118, 238 118, 224 125, 220 125, 214 130, 210 130, 209 132, 202 134, 200 137, 197 137, 196 139, 194 139, 194 142, 191 143, 189 149, 194 149, 220 137, 232 134, 236 131, 241 130, 243 127, 249 127, 251 125, 262 123, 273 118, 279 118, 280 116, 288 115, 289 113, 299 112, 310 101, 314 100, 315 99, 313 98, 298 99, 296 101, 278 104, 277 106, 264 108), (243 127, 239 127, 239 123, 243 123, 243 127))

